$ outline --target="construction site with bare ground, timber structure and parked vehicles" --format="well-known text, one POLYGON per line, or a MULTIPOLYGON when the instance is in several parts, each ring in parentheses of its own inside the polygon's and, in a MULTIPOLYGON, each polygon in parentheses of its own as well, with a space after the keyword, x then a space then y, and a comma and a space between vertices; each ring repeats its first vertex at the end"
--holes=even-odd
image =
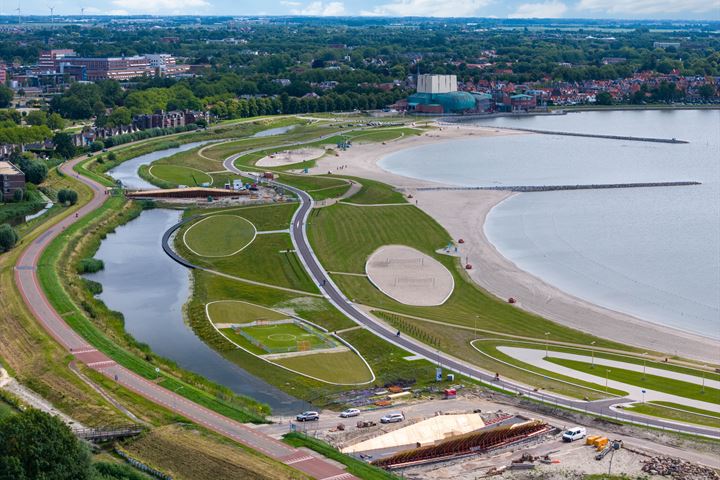
POLYGON ((627 478, 720 479, 714 445, 690 454, 667 434, 570 412, 548 415, 469 389, 457 397, 438 393, 434 399, 394 397, 391 405, 366 406, 355 418, 327 412, 317 425, 295 427, 401 478, 582 479, 622 472, 627 478), (382 423, 394 412, 403 420, 382 423), (585 436, 563 440, 565 431, 583 424, 585 436))

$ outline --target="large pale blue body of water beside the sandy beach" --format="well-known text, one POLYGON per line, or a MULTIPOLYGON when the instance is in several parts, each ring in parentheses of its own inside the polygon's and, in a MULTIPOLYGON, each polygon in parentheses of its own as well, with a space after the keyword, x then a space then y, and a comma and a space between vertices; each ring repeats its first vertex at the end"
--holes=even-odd
POLYGON ((485 233, 518 267, 572 295, 720 338, 720 111, 583 112, 476 123, 689 141, 506 135, 416 147, 380 165, 462 186, 702 182, 518 194, 490 212, 485 233))

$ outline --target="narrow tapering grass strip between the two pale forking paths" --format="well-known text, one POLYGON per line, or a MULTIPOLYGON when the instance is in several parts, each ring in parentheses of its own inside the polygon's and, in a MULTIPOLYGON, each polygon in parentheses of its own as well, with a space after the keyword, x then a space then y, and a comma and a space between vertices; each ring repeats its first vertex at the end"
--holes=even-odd
POLYGON ((604 367, 596 365, 595 368, 592 368, 590 362, 579 362, 577 360, 554 358, 552 357, 552 355, 547 360, 549 362, 562 365, 564 367, 572 368, 573 370, 589 373, 591 375, 597 375, 599 377, 605 376, 606 370, 610 370, 609 378, 611 380, 616 380, 618 382, 623 382, 638 387, 645 387, 649 390, 656 390, 658 392, 678 395, 680 397, 720 404, 720 390, 715 388, 705 387, 705 393, 702 393, 702 387, 700 385, 682 382, 680 380, 661 377, 658 375, 647 374, 643 379, 642 372, 635 372, 632 370, 625 370, 617 367, 604 367))

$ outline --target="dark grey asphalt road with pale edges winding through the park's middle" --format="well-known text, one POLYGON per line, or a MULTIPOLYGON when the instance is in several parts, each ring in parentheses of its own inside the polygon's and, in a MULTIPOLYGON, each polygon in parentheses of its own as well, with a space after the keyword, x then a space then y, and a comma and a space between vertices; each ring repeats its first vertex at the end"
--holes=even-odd
MULTIPOLYGON (((238 155, 228 157, 223 163, 225 168, 236 174, 242 172, 235 167, 234 161, 238 155)), ((525 385, 518 384, 515 382, 501 381, 497 382, 494 380, 494 375, 490 372, 486 372, 475 365, 468 362, 455 358, 447 353, 435 350, 423 343, 418 342, 415 339, 407 336, 396 336, 396 331, 390 329, 387 325, 378 321, 377 319, 367 315, 360 308, 356 307, 340 289, 335 285, 327 274, 323 266, 320 264, 315 252, 310 246, 310 242, 307 237, 306 223, 310 211, 314 206, 314 201, 309 194, 303 190, 297 189, 289 185, 283 185, 275 182, 278 186, 286 188, 295 193, 300 199, 300 208, 295 212, 292 219, 292 225, 290 227, 290 234, 292 237, 295 250, 300 256, 300 260, 305 265, 310 276, 313 278, 315 283, 319 286, 322 294, 327 298, 338 310, 340 310, 345 316, 355 321, 356 323, 363 325, 370 332, 375 335, 393 343, 408 352, 421 356, 431 362, 436 362, 438 365, 446 370, 451 370, 470 378, 480 380, 486 384, 501 386, 507 390, 513 392, 519 392, 528 397, 534 399, 550 402, 557 404, 562 407, 571 408, 578 411, 584 411, 593 414, 604 415, 608 417, 617 418, 629 423, 637 423, 641 425, 649 425, 656 428, 682 431, 685 433, 692 433, 697 435, 705 435, 708 437, 720 438, 720 433, 716 429, 706 428, 703 426, 691 426, 691 425, 679 425, 674 422, 664 421, 655 418, 648 418, 644 416, 632 415, 627 412, 621 412, 613 410, 610 407, 615 404, 628 403, 631 399, 608 399, 598 400, 592 402, 584 402, 581 400, 568 399, 566 397, 555 396, 552 393, 535 392, 532 388, 528 388, 525 385)), ((635 400, 640 400, 635 399, 635 400)))

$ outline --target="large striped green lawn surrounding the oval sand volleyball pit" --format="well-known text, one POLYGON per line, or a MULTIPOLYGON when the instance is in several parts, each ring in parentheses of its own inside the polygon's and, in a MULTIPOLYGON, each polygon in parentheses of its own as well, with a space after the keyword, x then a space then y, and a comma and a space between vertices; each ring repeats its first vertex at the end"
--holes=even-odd
POLYGON ((563 327, 500 301, 475 285, 455 257, 435 250, 447 245, 450 236, 431 217, 414 205, 363 208, 338 204, 314 210, 308 220, 308 236, 323 266, 329 271, 364 273, 365 262, 383 245, 407 245, 430 255, 452 273, 455 289, 436 307, 413 307, 382 294, 365 277, 336 275, 333 280, 355 301, 400 314, 419 316, 496 332, 587 343, 623 349, 623 345, 563 327))

